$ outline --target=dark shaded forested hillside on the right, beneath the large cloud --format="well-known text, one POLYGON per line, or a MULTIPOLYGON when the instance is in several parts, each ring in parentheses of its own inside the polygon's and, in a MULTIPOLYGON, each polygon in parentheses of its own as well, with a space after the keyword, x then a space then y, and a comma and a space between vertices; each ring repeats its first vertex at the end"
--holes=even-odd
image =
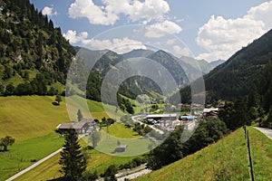
POLYGON ((248 94, 252 83, 272 61, 272 30, 232 55, 205 76, 211 99, 231 99, 248 94))

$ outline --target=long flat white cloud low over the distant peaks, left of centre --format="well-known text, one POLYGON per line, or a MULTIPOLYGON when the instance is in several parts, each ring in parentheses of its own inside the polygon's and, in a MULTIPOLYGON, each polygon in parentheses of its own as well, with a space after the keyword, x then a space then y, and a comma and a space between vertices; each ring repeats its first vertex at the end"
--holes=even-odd
POLYGON ((88 33, 76 33, 76 31, 68 30, 63 33, 63 37, 70 43, 82 43, 84 47, 94 50, 111 50, 113 52, 124 53, 134 49, 146 49, 146 46, 139 41, 131 40, 128 37, 113 38, 112 40, 88 39, 88 33))

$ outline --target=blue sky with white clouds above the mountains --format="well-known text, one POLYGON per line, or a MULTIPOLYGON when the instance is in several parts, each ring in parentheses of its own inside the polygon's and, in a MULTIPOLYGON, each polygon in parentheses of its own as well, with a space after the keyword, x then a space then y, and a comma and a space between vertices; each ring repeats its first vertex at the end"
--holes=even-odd
POLYGON ((120 49, 120 53, 147 46, 141 42, 144 39, 133 39, 121 31, 114 32, 122 35, 115 37, 115 41, 110 37, 108 41, 93 37, 122 25, 141 24, 147 29, 151 27, 145 33, 147 39, 156 37, 161 43, 164 35, 156 34, 159 29, 187 45, 171 44, 175 55, 211 62, 227 60, 272 28, 272 1, 265 0, 31 0, 31 3, 61 27, 63 36, 73 45, 111 49, 122 43, 135 44, 120 49))

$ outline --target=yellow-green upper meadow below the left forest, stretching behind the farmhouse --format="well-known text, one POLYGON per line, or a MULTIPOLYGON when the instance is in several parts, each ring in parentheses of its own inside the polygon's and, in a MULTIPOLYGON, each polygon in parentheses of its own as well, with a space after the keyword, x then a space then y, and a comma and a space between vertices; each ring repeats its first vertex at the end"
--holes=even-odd
MULTIPOLYGON (((60 106, 53 105, 54 99, 50 96, 0 97, 0 138, 10 135, 16 142, 36 138, 53 132, 58 124, 70 121, 65 99, 60 106)), ((85 100, 78 96, 70 99, 73 99, 70 108, 74 120, 78 108, 85 100)), ((109 116, 119 119, 121 116, 121 111, 115 113, 115 107, 110 105, 105 106, 111 110, 109 115, 106 114, 101 102, 87 100, 87 106, 93 119, 109 116)), ((83 116, 88 117, 88 112, 83 112, 83 116)))

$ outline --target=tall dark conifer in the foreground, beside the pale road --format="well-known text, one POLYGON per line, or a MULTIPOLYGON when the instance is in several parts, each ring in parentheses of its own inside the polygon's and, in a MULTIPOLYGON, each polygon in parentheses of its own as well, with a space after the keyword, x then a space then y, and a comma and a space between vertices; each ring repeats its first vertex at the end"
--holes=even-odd
POLYGON ((64 138, 65 142, 59 161, 62 166, 60 172, 63 173, 67 180, 79 180, 86 169, 86 158, 83 157, 74 129, 66 131, 64 138))

